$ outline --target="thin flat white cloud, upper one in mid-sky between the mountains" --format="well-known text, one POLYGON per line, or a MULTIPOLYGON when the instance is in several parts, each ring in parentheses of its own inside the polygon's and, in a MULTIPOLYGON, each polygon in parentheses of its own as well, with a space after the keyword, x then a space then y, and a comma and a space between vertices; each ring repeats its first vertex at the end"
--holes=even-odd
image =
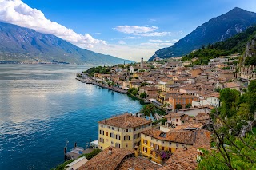
POLYGON ((125 33, 125 34, 140 34, 140 33, 148 33, 154 30, 157 30, 157 26, 116 26, 113 28, 114 30, 117 30, 119 32, 125 33))

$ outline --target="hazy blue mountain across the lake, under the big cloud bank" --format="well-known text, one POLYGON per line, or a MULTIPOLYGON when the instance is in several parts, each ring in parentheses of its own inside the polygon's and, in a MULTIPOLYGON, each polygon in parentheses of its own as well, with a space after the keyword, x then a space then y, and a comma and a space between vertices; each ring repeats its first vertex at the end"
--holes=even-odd
POLYGON ((118 57, 81 49, 51 34, 0 22, 0 63, 130 63, 118 57))

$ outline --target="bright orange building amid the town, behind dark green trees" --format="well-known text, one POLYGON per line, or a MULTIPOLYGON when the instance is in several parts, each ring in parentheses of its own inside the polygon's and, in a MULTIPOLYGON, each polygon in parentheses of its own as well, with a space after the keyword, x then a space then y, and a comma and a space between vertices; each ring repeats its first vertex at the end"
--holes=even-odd
POLYGON ((192 101, 199 101, 199 98, 186 94, 169 98, 169 103, 173 106, 173 110, 176 109, 177 104, 182 105, 182 109, 185 109, 187 104, 190 103, 192 105, 192 101))

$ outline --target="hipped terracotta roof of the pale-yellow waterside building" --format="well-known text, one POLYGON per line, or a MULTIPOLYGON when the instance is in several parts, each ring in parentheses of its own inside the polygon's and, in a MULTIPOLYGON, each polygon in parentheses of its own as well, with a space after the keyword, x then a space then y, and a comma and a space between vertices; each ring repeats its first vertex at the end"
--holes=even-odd
POLYGON ((139 125, 149 124, 151 121, 142 117, 135 117, 130 113, 126 113, 117 117, 111 117, 103 121, 98 121, 98 123, 118 128, 134 128, 139 125))

